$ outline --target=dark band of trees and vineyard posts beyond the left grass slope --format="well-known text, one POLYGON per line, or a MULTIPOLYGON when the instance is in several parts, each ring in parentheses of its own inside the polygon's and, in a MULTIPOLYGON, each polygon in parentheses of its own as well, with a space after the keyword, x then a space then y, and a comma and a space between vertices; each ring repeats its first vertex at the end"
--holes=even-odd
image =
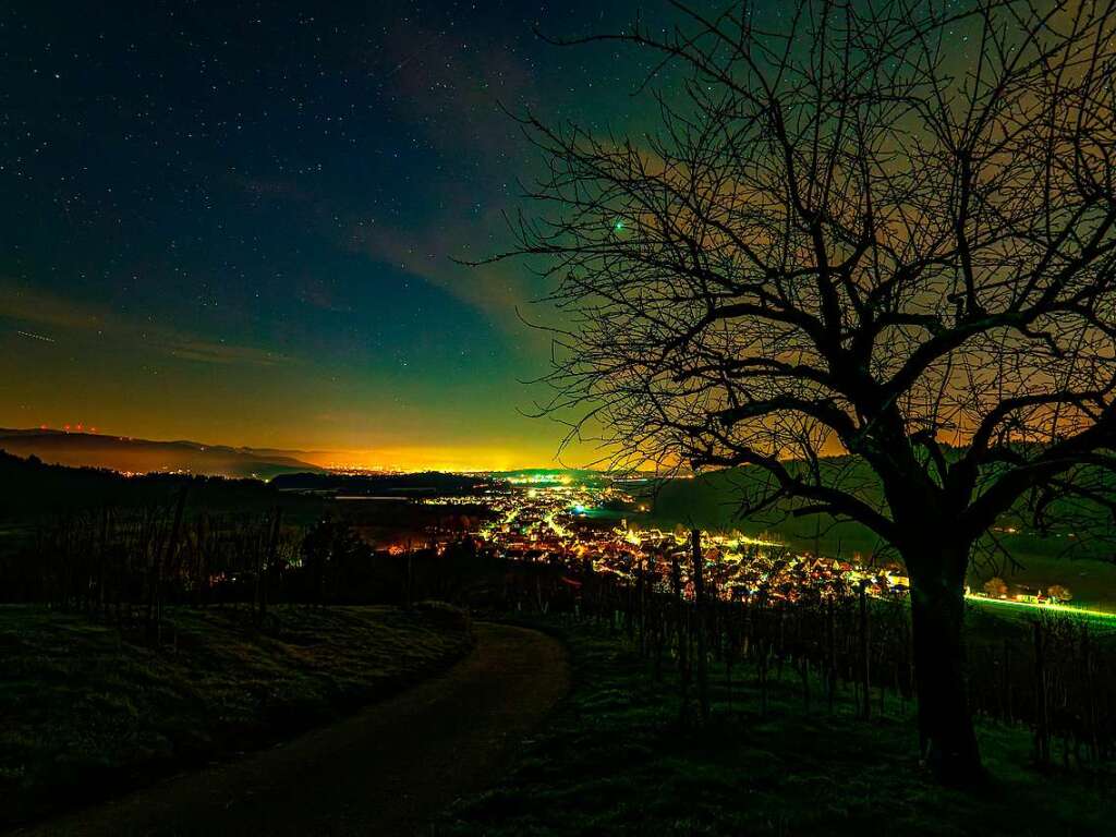
POLYGON ((0 602, 81 612, 158 637, 170 605, 244 607, 261 620, 276 603, 436 598, 499 609, 509 606, 509 575, 555 575, 496 558, 463 531, 448 546, 440 531, 441 546, 415 538, 406 549, 376 550, 335 510, 309 522, 283 506, 213 510, 194 501, 193 488, 182 482, 147 506, 44 516, 19 548, 0 552, 0 602))

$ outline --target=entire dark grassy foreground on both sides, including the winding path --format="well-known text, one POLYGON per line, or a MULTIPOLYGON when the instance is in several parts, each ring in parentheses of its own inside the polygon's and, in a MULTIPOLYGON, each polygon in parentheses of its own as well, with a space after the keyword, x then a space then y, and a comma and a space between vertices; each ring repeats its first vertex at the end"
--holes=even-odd
POLYGON ((806 706, 797 675, 772 672, 761 711, 751 666, 737 667, 731 691, 714 667, 710 722, 693 706, 684 724, 668 658, 656 681, 623 631, 550 620, 538 626, 565 642, 574 689, 539 725, 568 677, 566 652, 537 632, 478 624, 472 652, 446 670, 470 644, 455 612, 290 607, 266 632, 247 619, 174 612, 177 648, 154 652, 77 617, 0 610, 4 671, 16 675, 0 691, 8 816, 112 791, 27 830, 1112 834, 1112 769, 1061 764, 1056 745, 1056 767, 1040 771, 1024 727, 980 724, 988 787, 926 781, 913 706, 889 692, 865 721, 847 686, 830 712, 819 686, 806 706), (204 766, 436 671, 282 747, 204 766), (198 769, 118 795, 141 772, 183 767, 198 769))

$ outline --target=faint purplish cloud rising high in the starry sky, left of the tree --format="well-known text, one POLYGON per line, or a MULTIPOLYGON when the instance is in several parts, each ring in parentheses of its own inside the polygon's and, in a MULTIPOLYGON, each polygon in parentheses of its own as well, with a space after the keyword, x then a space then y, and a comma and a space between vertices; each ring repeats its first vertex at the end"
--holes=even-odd
POLYGON ((343 244, 427 281, 498 327, 522 335, 516 310, 538 296, 525 264, 471 268, 454 259, 482 259, 507 247, 503 210, 523 140, 501 105, 518 109, 539 98, 535 74, 506 39, 440 22, 393 21, 369 73, 400 118, 444 157, 436 209, 435 201, 424 204, 420 222, 353 218, 343 244))

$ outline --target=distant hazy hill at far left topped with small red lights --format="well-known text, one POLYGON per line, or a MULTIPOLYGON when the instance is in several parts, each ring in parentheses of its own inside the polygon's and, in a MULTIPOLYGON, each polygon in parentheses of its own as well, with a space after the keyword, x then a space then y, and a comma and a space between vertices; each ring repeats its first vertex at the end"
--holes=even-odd
POLYGON ((0 429, 0 450, 18 456, 74 468, 150 473, 184 471, 230 478, 269 480, 278 474, 320 472, 298 459, 298 451, 254 450, 200 442, 154 442, 98 433, 0 429))

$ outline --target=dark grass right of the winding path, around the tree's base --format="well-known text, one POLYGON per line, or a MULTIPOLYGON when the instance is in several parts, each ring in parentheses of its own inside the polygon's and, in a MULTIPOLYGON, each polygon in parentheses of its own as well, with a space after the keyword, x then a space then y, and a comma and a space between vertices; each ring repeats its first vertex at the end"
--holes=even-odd
POLYGON ((921 772, 913 710, 894 698, 872 721, 848 700, 830 715, 817 700, 807 710, 788 676, 760 715, 751 668, 735 672, 731 709, 714 670, 710 723, 682 725, 673 672, 655 683, 617 637, 565 633, 573 694, 507 780, 456 805, 439 835, 1113 833, 1112 775, 1031 769, 1026 729, 982 724, 991 786, 945 790, 921 772))

